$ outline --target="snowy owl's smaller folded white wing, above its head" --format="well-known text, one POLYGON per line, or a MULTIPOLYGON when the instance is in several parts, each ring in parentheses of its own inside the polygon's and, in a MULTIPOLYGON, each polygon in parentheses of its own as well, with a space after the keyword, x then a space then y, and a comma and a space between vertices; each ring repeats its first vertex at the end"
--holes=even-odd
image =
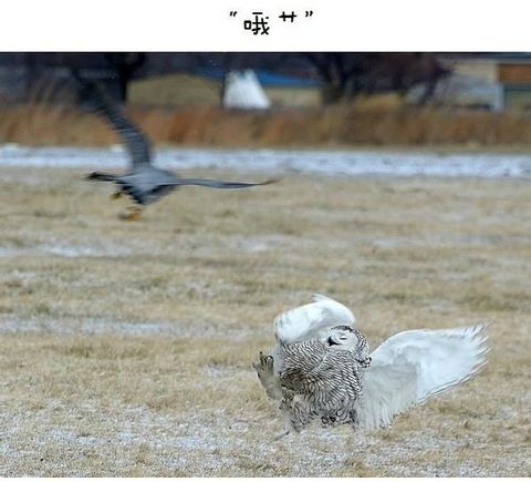
POLYGON ((282 312, 274 318, 274 334, 284 342, 321 338, 327 329, 340 325, 353 326, 352 311, 324 295, 313 295, 313 302, 282 312))

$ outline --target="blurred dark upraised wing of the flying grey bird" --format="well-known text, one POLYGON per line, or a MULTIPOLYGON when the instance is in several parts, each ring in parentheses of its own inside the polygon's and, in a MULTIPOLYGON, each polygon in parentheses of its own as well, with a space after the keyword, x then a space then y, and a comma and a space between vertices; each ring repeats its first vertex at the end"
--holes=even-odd
POLYGON ((149 164, 150 146, 148 139, 126 117, 122 106, 108 95, 102 85, 93 82, 88 85, 93 91, 93 99, 96 101, 97 110, 103 112, 105 119, 122 137, 127 147, 133 166, 149 164))

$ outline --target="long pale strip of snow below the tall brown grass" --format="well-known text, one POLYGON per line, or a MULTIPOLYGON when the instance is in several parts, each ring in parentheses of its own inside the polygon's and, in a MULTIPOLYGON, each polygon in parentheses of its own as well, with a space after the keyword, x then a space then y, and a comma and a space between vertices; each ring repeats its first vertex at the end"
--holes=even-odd
MULTIPOLYGON (((252 170, 273 174, 531 177, 531 156, 507 153, 384 151, 158 150, 160 167, 252 170)), ((127 165, 122 146, 110 148, 0 146, 0 166, 92 167, 127 165)))

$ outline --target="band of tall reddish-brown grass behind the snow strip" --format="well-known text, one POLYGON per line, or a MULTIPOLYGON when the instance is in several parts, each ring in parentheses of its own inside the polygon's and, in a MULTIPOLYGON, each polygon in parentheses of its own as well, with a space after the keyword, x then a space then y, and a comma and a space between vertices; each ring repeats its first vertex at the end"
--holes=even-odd
MULTIPOLYGON (((358 101, 325 109, 246 112, 198 106, 129 107, 159 144, 216 146, 465 145, 529 146, 523 113, 413 109, 358 101)), ((0 143, 108 145, 115 135, 94 115, 46 104, 3 107, 0 143)))

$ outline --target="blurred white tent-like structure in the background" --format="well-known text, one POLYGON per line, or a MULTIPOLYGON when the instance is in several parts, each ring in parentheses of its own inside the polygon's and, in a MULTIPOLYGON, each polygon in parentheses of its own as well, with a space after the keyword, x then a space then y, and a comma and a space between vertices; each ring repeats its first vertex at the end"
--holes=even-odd
POLYGON ((269 109, 271 102, 252 70, 232 71, 227 75, 223 107, 269 109))

